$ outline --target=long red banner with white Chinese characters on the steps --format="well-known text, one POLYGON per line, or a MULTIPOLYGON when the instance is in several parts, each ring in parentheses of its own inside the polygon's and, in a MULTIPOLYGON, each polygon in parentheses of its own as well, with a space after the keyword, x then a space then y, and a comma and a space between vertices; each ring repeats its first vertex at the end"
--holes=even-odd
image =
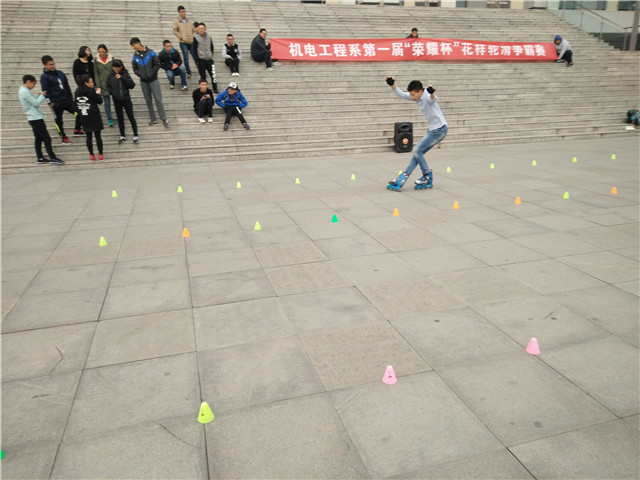
POLYGON ((278 60, 304 62, 548 62, 558 58, 553 43, 442 38, 272 38, 271 55, 278 60))

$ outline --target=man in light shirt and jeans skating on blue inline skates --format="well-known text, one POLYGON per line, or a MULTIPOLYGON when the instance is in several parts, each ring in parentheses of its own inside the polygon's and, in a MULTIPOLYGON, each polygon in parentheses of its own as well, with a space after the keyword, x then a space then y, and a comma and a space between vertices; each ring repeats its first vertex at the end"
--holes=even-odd
POLYGON ((409 86, 407 87, 408 91, 403 92, 400 88, 396 87, 393 77, 386 77, 385 80, 387 85, 389 85, 391 90, 393 90, 393 93, 395 93, 396 97, 401 100, 408 100, 417 103, 418 109, 429 126, 427 134, 422 137, 422 140, 420 140, 417 145, 413 147, 413 155, 411 156, 411 161, 409 161, 407 168, 404 172, 398 175, 397 178, 391 180, 389 182, 389 187, 387 188, 390 188, 391 190, 400 190, 407 181, 407 178, 418 165, 420 165, 420 169, 422 170, 422 177, 415 181, 416 185, 424 186, 423 188, 431 188, 433 187, 433 172, 429 168, 427 160, 424 158, 424 154, 444 140, 448 131, 447 121, 445 120, 442 110, 440 110, 440 106, 438 105, 436 89, 433 88, 433 85, 429 85, 425 93, 422 82, 419 80, 412 80, 409 82, 409 86))

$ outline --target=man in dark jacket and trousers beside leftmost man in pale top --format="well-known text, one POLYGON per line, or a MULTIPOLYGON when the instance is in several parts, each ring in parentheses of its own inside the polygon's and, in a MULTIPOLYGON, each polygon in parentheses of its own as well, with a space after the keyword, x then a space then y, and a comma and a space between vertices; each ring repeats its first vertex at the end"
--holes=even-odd
POLYGON ((49 99, 49 106, 53 108, 54 122, 56 130, 62 143, 68 145, 71 143, 69 137, 64 133, 64 122, 62 119, 63 112, 69 112, 75 116, 76 126, 73 130, 74 135, 84 135, 82 126, 80 124, 80 117, 76 115, 78 111, 76 104, 73 101, 73 95, 71 94, 71 87, 67 77, 62 70, 56 70, 56 62, 49 55, 42 57, 42 75, 40 76, 40 86, 44 92, 47 92, 47 98, 49 99))

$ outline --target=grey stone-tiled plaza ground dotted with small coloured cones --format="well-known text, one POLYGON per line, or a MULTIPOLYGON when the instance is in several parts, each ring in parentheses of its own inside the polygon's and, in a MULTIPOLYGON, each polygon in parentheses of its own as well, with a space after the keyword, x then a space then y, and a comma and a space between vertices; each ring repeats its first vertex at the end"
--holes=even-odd
POLYGON ((2 477, 638 478, 638 153, 5 176, 2 477))

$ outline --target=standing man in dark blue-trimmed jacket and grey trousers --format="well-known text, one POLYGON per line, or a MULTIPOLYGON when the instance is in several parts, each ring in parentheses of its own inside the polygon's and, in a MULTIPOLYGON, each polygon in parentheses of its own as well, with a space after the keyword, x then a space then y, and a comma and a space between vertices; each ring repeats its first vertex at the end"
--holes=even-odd
POLYGON ((158 80, 158 70, 160 70, 158 55, 150 48, 142 45, 140 39, 137 37, 129 40, 129 44, 134 50, 133 60, 131 62, 133 65, 133 73, 140 78, 140 87, 142 88, 142 94, 147 104, 147 110, 149 110, 149 125, 158 123, 156 114, 153 111, 153 100, 155 100, 158 115, 160 115, 164 126, 169 128, 169 122, 167 121, 167 116, 164 113, 164 105, 162 104, 160 81, 158 80), (152 96, 153 100, 151 99, 152 96))

